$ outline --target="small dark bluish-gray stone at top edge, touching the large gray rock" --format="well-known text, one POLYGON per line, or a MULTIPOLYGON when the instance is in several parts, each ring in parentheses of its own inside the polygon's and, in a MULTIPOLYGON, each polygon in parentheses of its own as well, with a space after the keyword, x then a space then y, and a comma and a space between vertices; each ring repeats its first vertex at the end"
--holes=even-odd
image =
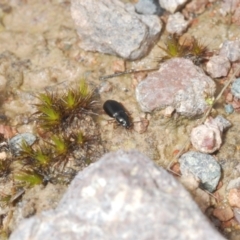
POLYGON ((137 13, 140 14, 155 14, 162 15, 163 9, 160 7, 158 0, 139 0, 135 4, 135 9, 137 13))

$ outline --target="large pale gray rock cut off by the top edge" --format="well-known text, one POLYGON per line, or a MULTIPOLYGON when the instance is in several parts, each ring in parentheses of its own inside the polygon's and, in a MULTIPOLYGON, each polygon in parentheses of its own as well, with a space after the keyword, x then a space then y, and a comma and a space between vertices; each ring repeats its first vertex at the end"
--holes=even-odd
POLYGON ((120 0, 72 0, 71 12, 81 48, 124 59, 145 56, 162 28, 157 16, 137 14, 120 0))

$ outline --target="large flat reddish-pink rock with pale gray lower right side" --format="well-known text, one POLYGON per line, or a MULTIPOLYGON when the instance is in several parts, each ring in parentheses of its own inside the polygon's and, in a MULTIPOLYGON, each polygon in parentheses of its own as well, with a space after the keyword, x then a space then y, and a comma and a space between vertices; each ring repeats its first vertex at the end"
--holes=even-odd
POLYGON ((173 58, 161 64, 136 87, 136 98, 144 112, 172 106, 185 116, 204 113, 205 97, 212 97, 216 85, 191 60, 173 58))

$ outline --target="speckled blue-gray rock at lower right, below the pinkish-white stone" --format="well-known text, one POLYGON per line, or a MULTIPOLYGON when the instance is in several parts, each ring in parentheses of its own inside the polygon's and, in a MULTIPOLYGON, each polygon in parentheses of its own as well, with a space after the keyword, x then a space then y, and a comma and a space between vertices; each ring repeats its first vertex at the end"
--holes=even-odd
POLYGON ((187 152, 179 158, 180 170, 184 175, 193 174, 201 181, 201 187, 213 192, 221 177, 221 167, 209 154, 187 152))

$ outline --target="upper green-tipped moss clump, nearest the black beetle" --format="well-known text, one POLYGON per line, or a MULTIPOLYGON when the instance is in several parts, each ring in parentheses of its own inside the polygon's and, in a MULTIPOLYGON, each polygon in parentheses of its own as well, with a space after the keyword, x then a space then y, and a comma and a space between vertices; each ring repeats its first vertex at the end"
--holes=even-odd
POLYGON ((79 86, 63 93, 46 91, 38 95, 36 120, 44 130, 61 132, 66 123, 83 112, 95 110, 94 92, 82 79, 79 86))

